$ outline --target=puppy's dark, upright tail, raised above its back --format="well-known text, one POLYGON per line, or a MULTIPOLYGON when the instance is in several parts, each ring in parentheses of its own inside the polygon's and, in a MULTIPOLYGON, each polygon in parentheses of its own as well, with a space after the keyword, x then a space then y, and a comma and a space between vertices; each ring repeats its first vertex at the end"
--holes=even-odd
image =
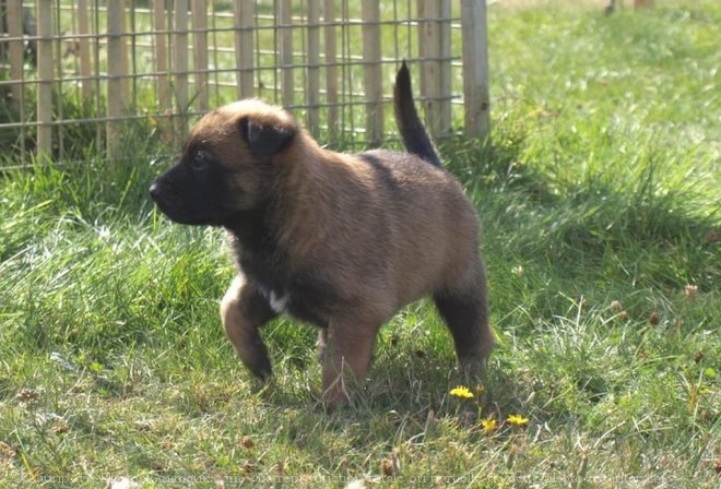
POLYGON ((403 145, 409 153, 421 156, 433 165, 441 166, 438 152, 415 109, 413 91, 411 88, 411 74, 405 65, 405 61, 403 61, 401 69, 398 70, 398 74, 395 75, 393 107, 395 108, 395 123, 401 133, 403 145))

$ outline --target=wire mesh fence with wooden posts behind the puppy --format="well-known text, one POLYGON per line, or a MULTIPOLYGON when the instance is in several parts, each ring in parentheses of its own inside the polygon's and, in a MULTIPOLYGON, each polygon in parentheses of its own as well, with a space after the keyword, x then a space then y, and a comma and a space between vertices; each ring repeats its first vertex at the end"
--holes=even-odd
POLYGON ((177 147, 193 119, 245 97, 283 105, 330 143, 375 145, 394 134, 401 59, 437 138, 487 133, 483 1, 0 5, 0 145, 21 163, 76 157, 87 145, 114 159, 129 123, 177 147))

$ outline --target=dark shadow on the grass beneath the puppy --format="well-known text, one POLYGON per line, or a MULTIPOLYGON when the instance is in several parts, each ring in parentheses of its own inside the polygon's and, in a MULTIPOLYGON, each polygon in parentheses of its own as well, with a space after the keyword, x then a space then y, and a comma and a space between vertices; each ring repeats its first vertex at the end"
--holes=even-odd
MULTIPOLYGON (((528 407, 531 386, 513 379, 495 358, 480 378, 462 375, 456 367, 450 335, 442 325, 433 327, 442 329, 436 333, 447 335, 446 341, 437 337, 418 341, 407 332, 401 332, 399 339, 393 331, 389 339, 385 334, 388 332, 381 333, 368 378, 348 386, 351 403, 335 413, 326 413, 320 402, 320 362, 309 337, 300 342, 303 348, 296 343, 294 351, 284 353, 284 358, 274 366, 273 380, 251 382, 250 393, 284 412, 327 417, 339 430, 348 422, 373 422, 388 416, 397 420, 413 419, 421 427, 428 416, 459 422, 476 422, 478 416, 501 420, 528 407), (466 385, 475 392, 474 398, 464 402, 449 395, 457 385, 466 385), (469 417, 469 413, 473 416, 469 417)), ((270 347, 275 350, 279 345, 270 347)), ((379 433, 377 441, 387 436, 379 433)))

